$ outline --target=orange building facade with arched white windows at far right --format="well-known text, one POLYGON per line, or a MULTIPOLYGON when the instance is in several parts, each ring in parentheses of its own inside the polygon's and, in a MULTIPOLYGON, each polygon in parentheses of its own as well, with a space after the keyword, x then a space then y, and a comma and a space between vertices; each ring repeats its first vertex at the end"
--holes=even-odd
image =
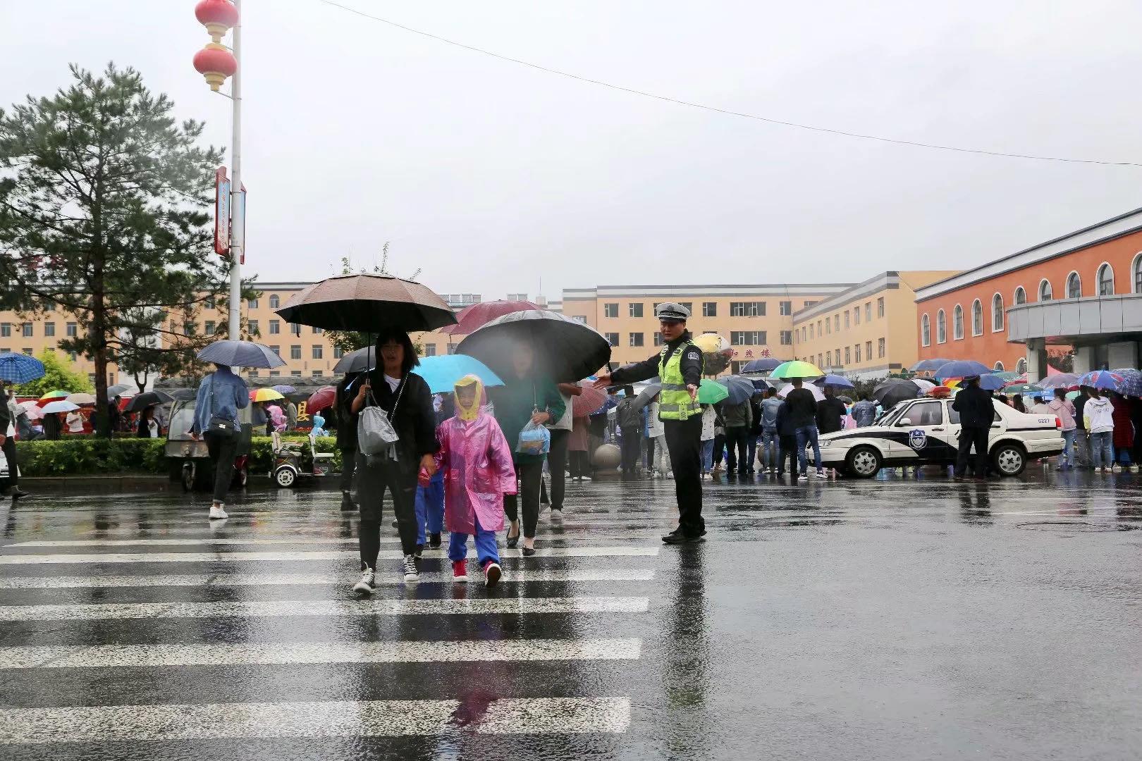
POLYGON ((1075 371, 1137 366, 1142 209, 916 291, 920 359, 975 359, 1046 375, 1075 350, 1075 371))

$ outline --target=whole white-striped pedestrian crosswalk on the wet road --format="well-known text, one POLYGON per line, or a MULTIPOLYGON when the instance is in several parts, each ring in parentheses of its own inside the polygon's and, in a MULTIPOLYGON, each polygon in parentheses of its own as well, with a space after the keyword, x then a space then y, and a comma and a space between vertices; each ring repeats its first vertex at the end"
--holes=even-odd
POLYGON ((400 551, 384 550, 376 593, 359 599, 355 541, 329 508, 177 536, 155 533, 193 531, 172 528, 185 512, 152 513, 134 535, 46 531, 0 548, 0 746, 204 758, 190 744, 257 740, 291 758, 307 739, 425 737, 468 758, 471 743, 483 755, 594 736, 597 755, 618 754, 605 738, 632 724, 657 536, 582 517, 533 557, 501 548, 493 590, 474 559, 472 583, 453 583, 444 550, 405 584, 400 551))

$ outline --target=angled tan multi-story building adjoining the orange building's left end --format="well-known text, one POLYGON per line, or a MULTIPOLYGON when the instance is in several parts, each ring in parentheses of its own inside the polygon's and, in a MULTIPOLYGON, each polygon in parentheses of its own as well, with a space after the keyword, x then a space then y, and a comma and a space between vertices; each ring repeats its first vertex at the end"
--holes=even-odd
POLYGON ((886 272, 793 316, 793 353, 850 378, 882 378, 917 357, 916 289, 955 270, 886 272))

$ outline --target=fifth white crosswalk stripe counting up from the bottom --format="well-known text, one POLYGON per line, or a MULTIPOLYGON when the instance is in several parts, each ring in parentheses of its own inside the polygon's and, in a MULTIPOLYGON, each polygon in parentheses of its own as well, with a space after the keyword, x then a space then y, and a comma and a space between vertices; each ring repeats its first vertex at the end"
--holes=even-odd
MULTIPOLYGON (((657 547, 540 547, 536 548, 536 556, 540 558, 600 558, 600 557, 627 557, 645 558, 658 554, 657 547)), ((517 558, 523 552, 515 550, 500 550, 500 557, 517 558)), ((314 550, 309 551, 281 551, 281 552, 106 552, 87 554, 6 554, 0 556, 0 565, 19 566, 38 564, 89 564, 89 562, 218 562, 218 561, 274 561, 286 562, 290 560, 348 560, 360 558, 355 551, 349 550, 314 550)), ((399 560, 403 554, 399 551, 381 552, 379 556, 386 560, 399 560)))

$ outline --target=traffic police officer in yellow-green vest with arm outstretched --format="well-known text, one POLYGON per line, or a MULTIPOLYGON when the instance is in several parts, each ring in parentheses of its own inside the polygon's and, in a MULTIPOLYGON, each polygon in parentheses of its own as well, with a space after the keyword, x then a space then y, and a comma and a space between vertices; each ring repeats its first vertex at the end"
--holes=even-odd
POLYGON ((596 388, 621 386, 658 375, 662 382, 658 416, 670 452, 674 488, 678 499, 678 527, 662 537, 667 544, 701 542, 702 520, 701 437, 702 408, 698 386, 702 380, 702 350, 686 330, 690 310, 681 303, 660 303, 654 315, 661 323, 662 350, 595 381, 596 388))

